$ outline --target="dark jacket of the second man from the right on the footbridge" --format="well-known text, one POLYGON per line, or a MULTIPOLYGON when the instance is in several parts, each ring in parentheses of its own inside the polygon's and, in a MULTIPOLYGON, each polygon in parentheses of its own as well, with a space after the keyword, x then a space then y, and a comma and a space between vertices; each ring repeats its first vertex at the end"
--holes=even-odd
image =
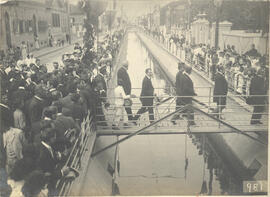
POLYGON ((225 95, 227 95, 227 93, 228 93, 228 83, 225 77, 220 73, 216 73, 213 101, 215 103, 219 103, 220 105, 226 105, 225 95), (224 97, 219 97, 221 95, 223 95, 224 97))

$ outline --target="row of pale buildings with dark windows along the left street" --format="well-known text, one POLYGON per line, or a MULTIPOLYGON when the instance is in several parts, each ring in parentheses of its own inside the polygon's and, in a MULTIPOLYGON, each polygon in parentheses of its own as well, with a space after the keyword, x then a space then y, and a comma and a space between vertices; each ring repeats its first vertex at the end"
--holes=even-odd
POLYGON ((20 46, 29 51, 65 40, 82 31, 84 14, 67 0, 0 0, 0 50, 20 46))

